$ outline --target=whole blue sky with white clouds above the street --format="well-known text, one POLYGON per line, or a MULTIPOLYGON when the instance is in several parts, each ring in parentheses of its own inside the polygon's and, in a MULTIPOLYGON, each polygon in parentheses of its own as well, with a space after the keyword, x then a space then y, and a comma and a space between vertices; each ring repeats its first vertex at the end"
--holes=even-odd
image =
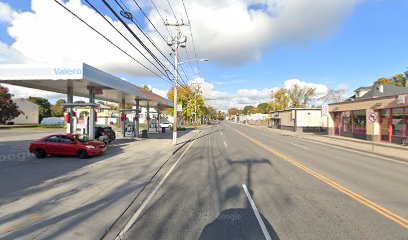
MULTIPOLYGON (((59 2, 154 69, 85 1, 59 2)), ((102 1, 90 2, 125 36, 132 37, 102 1)), ((158 31, 133 0, 118 2, 129 9, 135 22, 172 60, 171 50, 160 36, 169 35, 161 17, 175 22, 168 2, 136 1, 158 31)), ((108 3, 119 11, 115 1, 108 3)), ((347 88, 350 95, 354 89, 370 85, 380 77, 408 70, 406 0, 184 0, 184 3, 191 32, 189 27, 182 27, 183 35, 187 36, 187 51, 181 49, 181 59, 197 56, 209 61, 199 62, 199 68, 195 62, 183 64, 188 75, 183 79, 201 83, 207 103, 220 110, 269 101, 271 91, 295 83, 316 87, 318 96, 329 88, 347 88)), ((177 20, 188 22, 182 1, 170 0, 170 4, 177 20)), ((127 24, 155 51, 134 23, 127 24)), ((170 28, 169 32, 173 35, 175 29, 170 28)), ((135 45, 140 46, 136 42, 135 45)), ((155 54, 172 69, 159 52, 155 54)), ((0 64, 76 61, 136 85, 147 84, 160 95, 171 87, 53 0, 0 0, 0 64)), ((51 101, 63 97, 9 88, 16 97, 39 95, 51 101)))

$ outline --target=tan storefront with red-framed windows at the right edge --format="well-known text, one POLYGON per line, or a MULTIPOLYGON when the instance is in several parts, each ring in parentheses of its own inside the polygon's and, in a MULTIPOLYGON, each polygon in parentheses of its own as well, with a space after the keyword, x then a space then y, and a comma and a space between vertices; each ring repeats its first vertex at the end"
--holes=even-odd
POLYGON ((407 144, 408 88, 372 88, 363 96, 356 92, 356 96, 361 97, 354 96, 344 102, 329 105, 329 135, 407 144), (373 91, 381 95, 375 95, 373 91), (376 116, 374 121, 368 118, 372 113, 376 116))

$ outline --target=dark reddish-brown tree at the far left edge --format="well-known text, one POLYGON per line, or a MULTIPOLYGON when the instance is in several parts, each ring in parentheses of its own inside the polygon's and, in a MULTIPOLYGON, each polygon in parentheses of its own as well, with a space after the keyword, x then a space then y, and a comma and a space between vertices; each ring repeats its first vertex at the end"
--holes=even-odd
POLYGON ((8 88, 0 85, 0 123, 5 124, 6 121, 18 117, 22 112, 18 110, 18 106, 13 100, 12 94, 8 88))

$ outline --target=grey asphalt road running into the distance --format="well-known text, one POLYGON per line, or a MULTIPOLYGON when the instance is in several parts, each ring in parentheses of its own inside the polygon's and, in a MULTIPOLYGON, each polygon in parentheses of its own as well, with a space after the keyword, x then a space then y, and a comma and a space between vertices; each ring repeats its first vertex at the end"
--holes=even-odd
POLYGON ((200 134, 126 238, 407 239, 407 176, 406 163, 222 123, 200 134))

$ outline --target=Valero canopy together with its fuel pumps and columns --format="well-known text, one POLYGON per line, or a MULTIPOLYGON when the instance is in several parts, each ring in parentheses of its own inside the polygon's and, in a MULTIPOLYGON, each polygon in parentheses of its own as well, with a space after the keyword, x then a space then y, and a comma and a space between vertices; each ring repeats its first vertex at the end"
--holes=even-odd
POLYGON ((141 107, 147 109, 147 126, 151 121, 150 108, 155 108, 160 118, 161 111, 173 107, 168 99, 85 63, 2 64, 0 83, 66 94, 67 101, 63 106, 67 133, 76 132, 78 127, 90 139, 95 138, 96 114, 100 107, 95 99, 123 106, 119 109, 123 137, 139 137, 141 107), (74 103, 74 96, 88 98, 89 102, 74 103), (129 104, 136 108, 125 109, 129 104), (89 108, 89 116, 76 116, 75 107, 89 108), (127 113, 132 113, 133 119, 128 119, 127 113), (78 124, 78 118, 81 118, 81 124, 78 124))

